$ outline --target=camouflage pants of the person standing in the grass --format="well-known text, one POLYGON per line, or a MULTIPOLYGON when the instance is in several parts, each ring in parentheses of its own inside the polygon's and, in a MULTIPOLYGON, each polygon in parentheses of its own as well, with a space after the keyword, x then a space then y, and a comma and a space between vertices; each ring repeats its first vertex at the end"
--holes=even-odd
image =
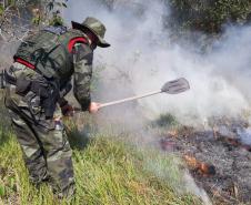
POLYGON ((49 182, 59 196, 69 198, 74 193, 72 152, 59 120, 60 109, 54 113, 57 121, 46 120, 41 107, 31 107, 23 96, 14 93, 14 85, 8 85, 6 90, 6 105, 31 182, 36 185, 49 182))

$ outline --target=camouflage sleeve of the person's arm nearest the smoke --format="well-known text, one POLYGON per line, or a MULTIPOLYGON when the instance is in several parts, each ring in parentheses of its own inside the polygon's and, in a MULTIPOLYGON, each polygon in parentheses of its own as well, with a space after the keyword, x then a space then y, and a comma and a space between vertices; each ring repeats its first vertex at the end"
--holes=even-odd
POLYGON ((73 51, 74 74, 73 74, 73 93, 74 98, 87 111, 91 103, 91 78, 93 51, 87 44, 77 44, 73 51))

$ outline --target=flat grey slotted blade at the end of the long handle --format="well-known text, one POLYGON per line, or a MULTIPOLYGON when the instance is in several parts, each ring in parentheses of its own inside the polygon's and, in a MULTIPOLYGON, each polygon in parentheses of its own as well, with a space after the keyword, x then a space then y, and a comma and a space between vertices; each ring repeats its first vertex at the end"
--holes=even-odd
POLYGON ((181 78, 181 79, 167 82, 161 88, 161 92, 165 92, 168 94, 179 94, 188 91, 189 89, 190 89, 190 85, 187 79, 181 78))

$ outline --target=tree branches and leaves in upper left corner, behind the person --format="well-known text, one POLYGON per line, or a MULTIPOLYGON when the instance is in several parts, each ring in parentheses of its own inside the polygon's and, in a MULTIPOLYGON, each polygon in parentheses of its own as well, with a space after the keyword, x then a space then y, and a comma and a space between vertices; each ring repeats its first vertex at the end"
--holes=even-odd
POLYGON ((22 41, 47 24, 63 24, 66 0, 3 0, 0 4, 0 37, 6 42, 22 41))

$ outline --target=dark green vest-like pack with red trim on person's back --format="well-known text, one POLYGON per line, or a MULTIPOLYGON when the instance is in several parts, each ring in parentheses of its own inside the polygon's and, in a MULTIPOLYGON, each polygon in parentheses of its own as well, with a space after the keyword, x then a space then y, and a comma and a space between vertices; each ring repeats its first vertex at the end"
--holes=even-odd
POLYGON ((20 44, 14 61, 48 79, 69 79, 73 73, 72 48, 77 42, 88 43, 83 32, 62 25, 47 27, 20 44))

